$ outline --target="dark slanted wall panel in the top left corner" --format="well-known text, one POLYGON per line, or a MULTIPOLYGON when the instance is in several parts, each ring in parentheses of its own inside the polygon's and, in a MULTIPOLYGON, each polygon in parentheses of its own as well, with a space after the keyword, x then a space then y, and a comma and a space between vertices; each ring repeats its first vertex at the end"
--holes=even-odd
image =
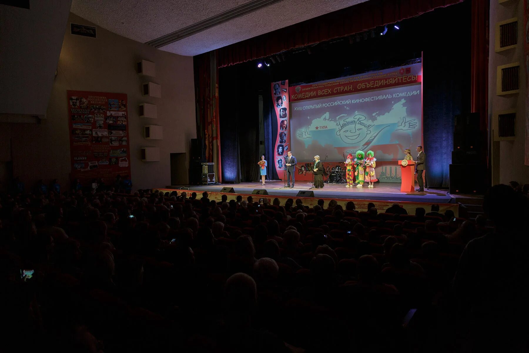
POLYGON ((0 115, 44 115, 71 0, 0 5, 0 115))

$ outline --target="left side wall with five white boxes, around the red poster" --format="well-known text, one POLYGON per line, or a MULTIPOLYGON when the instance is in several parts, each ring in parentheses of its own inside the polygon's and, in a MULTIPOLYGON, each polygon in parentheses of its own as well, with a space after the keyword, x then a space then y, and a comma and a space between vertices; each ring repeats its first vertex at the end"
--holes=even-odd
POLYGON ((0 124, 0 130, 7 132, 2 139, 11 139, 14 176, 20 175, 26 187, 39 178, 59 178, 62 185, 69 184, 66 91, 88 90, 127 94, 133 189, 170 185, 170 153, 189 154, 189 139, 196 137, 193 58, 157 50, 99 27, 95 39, 72 35, 71 22, 94 26, 70 13, 47 119, 40 124, 0 124), (142 97, 141 83, 147 77, 135 71, 141 59, 156 63, 156 77, 149 80, 161 85, 161 98, 142 97), (158 119, 140 118, 140 103, 156 104, 158 119), (143 138, 143 126, 148 124, 163 126, 163 140, 143 138), (159 147, 161 161, 142 162, 141 147, 159 147))

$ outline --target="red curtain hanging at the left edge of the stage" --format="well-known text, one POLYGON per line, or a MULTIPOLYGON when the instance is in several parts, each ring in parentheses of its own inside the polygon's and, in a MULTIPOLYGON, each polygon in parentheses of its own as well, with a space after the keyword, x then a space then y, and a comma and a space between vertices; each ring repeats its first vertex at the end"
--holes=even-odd
POLYGON ((197 138, 202 140, 206 160, 215 163, 216 182, 222 183, 221 140, 218 121, 217 53, 210 51, 193 58, 197 138))

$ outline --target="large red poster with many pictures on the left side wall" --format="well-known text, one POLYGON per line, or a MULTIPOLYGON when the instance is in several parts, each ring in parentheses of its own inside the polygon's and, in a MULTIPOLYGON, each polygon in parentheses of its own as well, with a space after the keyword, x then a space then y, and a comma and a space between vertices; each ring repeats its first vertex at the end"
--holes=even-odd
POLYGON ((130 175, 129 115, 123 93, 68 90, 71 179, 89 185, 130 175))

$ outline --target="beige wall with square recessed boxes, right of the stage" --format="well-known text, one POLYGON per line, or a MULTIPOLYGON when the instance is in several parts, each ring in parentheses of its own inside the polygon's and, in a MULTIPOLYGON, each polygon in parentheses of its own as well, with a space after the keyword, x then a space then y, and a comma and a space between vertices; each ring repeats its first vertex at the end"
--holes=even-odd
POLYGON ((507 184, 511 180, 519 183, 529 183, 529 166, 524 165, 525 151, 525 59, 524 39, 525 1, 507 1, 498 4, 498 0, 490 0, 490 36, 489 36, 489 116, 494 112, 506 109, 516 109, 516 137, 514 141, 492 141, 491 135, 491 166, 492 184, 507 184), (496 23, 518 17, 518 45, 514 49, 495 52, 496 23), (521 65, 520 92, 510 96, 496 95, 496 69, 500 65, 518 61, 521 65))

